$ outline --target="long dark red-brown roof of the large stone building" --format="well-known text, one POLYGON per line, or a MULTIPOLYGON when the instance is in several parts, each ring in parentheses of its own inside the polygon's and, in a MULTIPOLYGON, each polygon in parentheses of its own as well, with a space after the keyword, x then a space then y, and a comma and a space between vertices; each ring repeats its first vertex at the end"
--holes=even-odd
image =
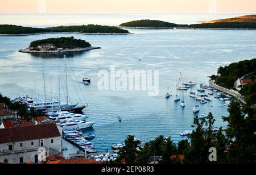
POLYGON ((14 127, 0 130, 0 143, 56 138, 59 136, 60 132, 56 124, 53 123, 14 127))

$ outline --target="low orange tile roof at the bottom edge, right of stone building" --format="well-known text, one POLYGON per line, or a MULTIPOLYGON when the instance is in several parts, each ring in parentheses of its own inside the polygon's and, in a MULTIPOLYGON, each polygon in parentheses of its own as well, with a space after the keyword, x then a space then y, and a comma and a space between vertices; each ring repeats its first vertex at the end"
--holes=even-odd
POLYGON ((106 164, 105 162, 97 162, 94 159, 66 159, 49 161, 47 164, 106 164))

